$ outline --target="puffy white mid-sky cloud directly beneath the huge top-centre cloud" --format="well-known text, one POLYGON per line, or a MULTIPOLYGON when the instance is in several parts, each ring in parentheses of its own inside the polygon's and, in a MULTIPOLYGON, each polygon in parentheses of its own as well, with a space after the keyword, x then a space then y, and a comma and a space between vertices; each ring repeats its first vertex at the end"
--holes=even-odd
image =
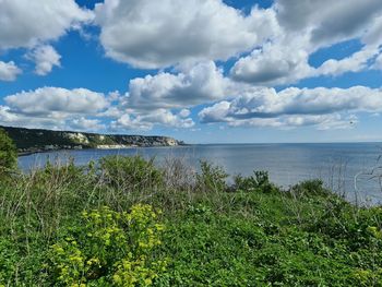
POLYGON ((127 103, 135 109, 184 108, 227 96, 231 82, 213 61, 178 74, 167 72, 130 81, 127 103))

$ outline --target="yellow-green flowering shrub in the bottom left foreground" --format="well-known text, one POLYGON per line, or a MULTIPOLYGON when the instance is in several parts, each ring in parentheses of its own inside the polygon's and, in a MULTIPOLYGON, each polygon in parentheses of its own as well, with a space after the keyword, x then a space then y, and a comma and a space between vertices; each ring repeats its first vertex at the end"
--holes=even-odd
POLYGON ((148 286, 165 271, 153 252, 164 226, 152 206, 83 212, 80 225, 51 247, 51 276, 65 286, 148 286))

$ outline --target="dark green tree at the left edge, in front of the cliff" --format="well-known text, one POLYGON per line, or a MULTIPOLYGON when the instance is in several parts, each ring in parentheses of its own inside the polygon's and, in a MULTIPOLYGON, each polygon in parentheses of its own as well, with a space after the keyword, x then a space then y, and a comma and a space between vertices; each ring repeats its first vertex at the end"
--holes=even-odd
POLYGON ((0 174, 3 175, 16 167, 17 151, 8 133, 0 129, 0 174))

